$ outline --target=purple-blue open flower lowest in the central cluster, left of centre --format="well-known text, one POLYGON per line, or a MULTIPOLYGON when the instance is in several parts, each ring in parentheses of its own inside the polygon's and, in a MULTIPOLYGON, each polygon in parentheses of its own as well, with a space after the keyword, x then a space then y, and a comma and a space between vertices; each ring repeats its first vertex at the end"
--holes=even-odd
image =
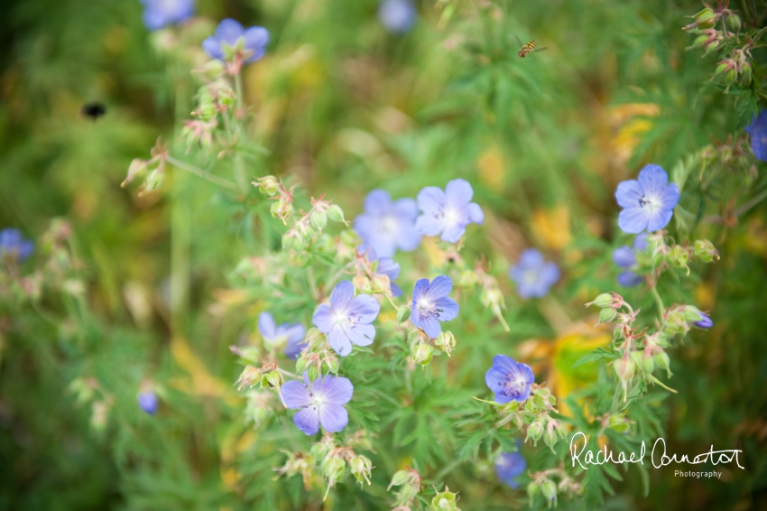
POLYGON ((307 435, 319 432, 319 425, 326 432, 340 432, 349 423, 344 404, 352 399, 355 387, 343 376, 325 376, 310 383, 306 373, 303 383, 291 380, 280 392, 285 406, 298 409, 293 423, 307 435))

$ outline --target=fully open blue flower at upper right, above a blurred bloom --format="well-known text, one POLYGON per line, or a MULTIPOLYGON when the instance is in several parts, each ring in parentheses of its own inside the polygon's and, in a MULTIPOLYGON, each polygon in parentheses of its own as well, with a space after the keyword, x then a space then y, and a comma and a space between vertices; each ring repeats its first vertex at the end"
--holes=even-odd
POLYGON ((618 227, 624 232, 656 231, 669 224, 679 202, 679 187, 669 183, 669 174, 658 165, 645 165, 638 180, 618 185, 615 200, 624 209, 618 216, 618 227))

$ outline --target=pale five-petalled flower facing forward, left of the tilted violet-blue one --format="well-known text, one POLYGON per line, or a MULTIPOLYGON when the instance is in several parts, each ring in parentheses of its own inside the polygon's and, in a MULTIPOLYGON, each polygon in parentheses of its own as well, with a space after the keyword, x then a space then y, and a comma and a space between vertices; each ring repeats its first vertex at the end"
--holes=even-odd
POLYGON ((355 286, 349 281, 338 283, 330 293, 330 305, 323 303, 314 311, 314 326, 328 334, 330 346, 341 357, 352 351, 352 344, 369 346, 375 338, 371 325, 381 305, 368 294, 355 296, 355 286))

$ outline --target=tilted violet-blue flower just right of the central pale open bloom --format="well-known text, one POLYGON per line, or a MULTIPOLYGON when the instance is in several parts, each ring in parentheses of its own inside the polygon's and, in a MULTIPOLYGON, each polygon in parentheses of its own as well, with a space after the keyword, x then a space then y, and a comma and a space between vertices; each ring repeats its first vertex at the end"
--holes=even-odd
POLYGON ((426 332, 431 339, 436 339, 442 326, 439 321, 450 321, 458 315, 458 304, 448 294, 453 289, 450 277, 441 275, 431 283, 429 279, 420 279, 412 291, 412 325, 426 332))

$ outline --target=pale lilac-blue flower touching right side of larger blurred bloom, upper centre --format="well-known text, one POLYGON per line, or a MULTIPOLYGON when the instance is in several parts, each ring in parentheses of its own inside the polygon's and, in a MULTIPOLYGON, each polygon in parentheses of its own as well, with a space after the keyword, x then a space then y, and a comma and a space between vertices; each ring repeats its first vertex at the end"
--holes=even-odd
POLYGON ((445 190, 427 186, 418 193, 418 209, 422 214, 415 227, 426 236, 442 235, 442 241, 456 243, 466 232, 467 225, 482 225, 485 214, 476 202, 471 202, 474 190, 462 179, 448 182, 445 190))

